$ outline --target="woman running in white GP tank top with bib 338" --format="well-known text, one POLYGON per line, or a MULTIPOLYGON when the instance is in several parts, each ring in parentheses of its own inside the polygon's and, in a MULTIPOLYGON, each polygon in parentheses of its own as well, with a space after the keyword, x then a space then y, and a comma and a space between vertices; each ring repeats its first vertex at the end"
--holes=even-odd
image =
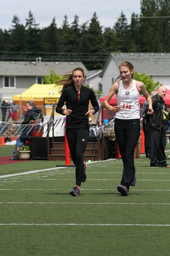
POLYGON ((104 107, 116 113, 115 136, 119 147, 119 152, 123 162, 122 180, 117 190, 122 196, 129 195, 129 187, 136 185, 136 168, 134 166, 134 151, 140 136, 140 116, 139 116, 139 94, 145 96, 149 111, 152 115, 152 99, 146 90, 145 85, 133 80, 133 65, 129 61, 124 61, 119 66, 120 75, 112 85, 106 99, 104 107), (116 93, 117 106, 111 106, 109 101, 116 93))

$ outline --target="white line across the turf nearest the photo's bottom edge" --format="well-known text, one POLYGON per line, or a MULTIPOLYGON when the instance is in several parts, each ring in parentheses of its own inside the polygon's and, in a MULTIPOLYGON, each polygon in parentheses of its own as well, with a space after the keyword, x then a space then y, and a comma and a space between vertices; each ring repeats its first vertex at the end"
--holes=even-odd
POLYGON ((170 224, 0 223, 0 226, 145 226, 145 227, 170 227, 170 224))

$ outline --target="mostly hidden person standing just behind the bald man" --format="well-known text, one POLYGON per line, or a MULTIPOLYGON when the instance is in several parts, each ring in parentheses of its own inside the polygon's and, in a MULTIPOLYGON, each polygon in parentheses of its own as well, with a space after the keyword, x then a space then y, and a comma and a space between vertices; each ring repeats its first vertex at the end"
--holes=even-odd
MULTIPOLYGON (((151 93, 149 94, 152 98, 152 96, 156 95, 157 92, 156 91, 151 91, 151 93)), ((142 128, 143 128, 143 132, 145 135, 145 154, 146 154, 146 158, 150 159, 150 136, 151 136, 151 128, 150 126, 146 123, 146 114, 145 111, 148 108, 148 102, 147 100, 145 100, 145 102, 143 103, 142 106, 142 111, 141 111, 141 116, 143 117, 142 120, 142 128)))

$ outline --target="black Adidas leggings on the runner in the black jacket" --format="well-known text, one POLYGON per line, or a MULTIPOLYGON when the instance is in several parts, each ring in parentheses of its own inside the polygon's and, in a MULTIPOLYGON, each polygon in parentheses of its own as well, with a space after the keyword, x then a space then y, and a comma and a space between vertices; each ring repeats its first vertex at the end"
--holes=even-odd
POLYGON ((81 185, 84 173, 84 151, 89 138, 89 127, 66 128, 66 137, 75 167, 75 184, 81 185))

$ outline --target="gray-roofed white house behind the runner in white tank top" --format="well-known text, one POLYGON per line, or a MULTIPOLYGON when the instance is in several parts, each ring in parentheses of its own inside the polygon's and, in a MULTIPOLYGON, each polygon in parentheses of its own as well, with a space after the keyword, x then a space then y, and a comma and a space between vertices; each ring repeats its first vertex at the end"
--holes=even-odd
POLYGON ((111 53, 100 74, 103 94, 108 94, 123 61, 130 61, 134 71, 146 73, 154 82, 159 81, 170 89, 170 53, 111 53))

